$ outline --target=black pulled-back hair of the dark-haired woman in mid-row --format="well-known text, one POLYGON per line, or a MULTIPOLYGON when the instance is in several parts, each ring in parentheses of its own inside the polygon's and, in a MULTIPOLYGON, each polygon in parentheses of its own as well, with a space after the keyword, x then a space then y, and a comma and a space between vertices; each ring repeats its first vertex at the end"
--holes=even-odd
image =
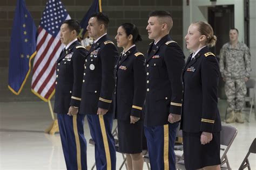
POLYGON ((135 44, 138 41, 142 41, 142 36, 139 34, 139 30, 136 25, 132 23, 124 23, 120 26, 123 27, 127 36, 132 35, 132 43, 135 44))

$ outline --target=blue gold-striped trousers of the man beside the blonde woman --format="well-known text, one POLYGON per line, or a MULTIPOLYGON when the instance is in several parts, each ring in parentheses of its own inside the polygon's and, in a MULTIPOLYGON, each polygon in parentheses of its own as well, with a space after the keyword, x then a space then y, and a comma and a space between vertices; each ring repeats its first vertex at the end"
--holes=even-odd
POLYGON ((177 127, 178 123, 150 127, 144 126, 152 170, 176 169, 174 143, 177 127))

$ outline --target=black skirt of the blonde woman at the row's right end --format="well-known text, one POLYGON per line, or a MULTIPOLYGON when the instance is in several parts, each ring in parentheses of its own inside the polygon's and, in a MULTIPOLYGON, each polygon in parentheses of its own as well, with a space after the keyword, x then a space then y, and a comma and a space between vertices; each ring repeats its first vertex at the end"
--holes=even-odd
POLYGON ((201 132, 183 131, 184 162, 186 169, 200 169, 220 165, 220 132, 212 133, 210 143, 202 145, 201 132))

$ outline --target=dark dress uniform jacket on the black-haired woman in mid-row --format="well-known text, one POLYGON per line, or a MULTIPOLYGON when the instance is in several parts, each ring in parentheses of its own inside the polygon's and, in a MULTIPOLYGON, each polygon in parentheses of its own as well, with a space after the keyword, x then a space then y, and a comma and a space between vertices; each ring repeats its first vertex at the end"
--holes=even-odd
POLYGON ((136 46, 118 58, 114 73, 116 89, 114 92, 115 118, 130 121, 130 116, 143 118, 142 108, 146 96, 146 72, 144 55, 136 46))

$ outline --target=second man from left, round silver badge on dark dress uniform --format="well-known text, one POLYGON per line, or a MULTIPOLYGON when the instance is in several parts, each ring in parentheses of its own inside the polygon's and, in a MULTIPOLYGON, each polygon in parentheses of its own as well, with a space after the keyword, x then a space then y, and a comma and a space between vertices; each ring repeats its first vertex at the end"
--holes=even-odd
POLYGON ((114 65, 118 52, 107 37, 108 24, 109 18, 99 12, 91 16, 87 26, 89 37, 95 41, 85 56, 79 113, 86 114, 91 137, 95 141, 97 169, 110 170, 116 169, 116 150, 111 131, 114 65))

